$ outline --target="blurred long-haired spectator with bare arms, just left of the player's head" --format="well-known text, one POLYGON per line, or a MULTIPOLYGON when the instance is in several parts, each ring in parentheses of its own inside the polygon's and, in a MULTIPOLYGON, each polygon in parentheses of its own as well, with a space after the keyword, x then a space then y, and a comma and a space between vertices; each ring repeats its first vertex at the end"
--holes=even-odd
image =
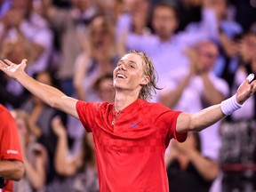
POLYGON ((88 28, 88 49, 76 59, 74 86, 80 100, 99 100, 92 84, 100 76, 111 73, 116 63, 114 27, 105 16, 95 17, 88 28))

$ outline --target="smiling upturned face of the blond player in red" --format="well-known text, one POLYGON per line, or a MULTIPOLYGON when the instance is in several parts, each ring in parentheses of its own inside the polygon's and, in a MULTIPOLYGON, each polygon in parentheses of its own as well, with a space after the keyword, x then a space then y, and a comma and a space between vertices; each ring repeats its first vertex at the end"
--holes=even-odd
POLYGON ((113 76, 116 90, 136 92, 138 96, 141 87, 149 81, 149 76, 144 72, 143 60, 136 53, 125 54, 118 61, 113 76))

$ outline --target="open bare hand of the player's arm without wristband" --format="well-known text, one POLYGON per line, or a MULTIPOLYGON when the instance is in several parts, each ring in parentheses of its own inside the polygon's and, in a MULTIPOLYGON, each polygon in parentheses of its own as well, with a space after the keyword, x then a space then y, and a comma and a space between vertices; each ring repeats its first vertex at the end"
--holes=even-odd
POLYGON ((20 64, 12 63, 10 60, 0 60, 0 70, 7 76, 16 78, 20 72, 24 72, 27 67, 28 60, 22 60, 20 64))

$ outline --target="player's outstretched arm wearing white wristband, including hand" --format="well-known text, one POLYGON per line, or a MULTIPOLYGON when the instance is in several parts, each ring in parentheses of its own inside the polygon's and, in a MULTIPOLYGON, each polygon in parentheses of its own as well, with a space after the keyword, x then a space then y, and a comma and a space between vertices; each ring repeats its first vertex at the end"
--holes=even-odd
POLYGON ((181 113, 177 119, 176 132, 199 132, 240 108, 256 91, 256 81, 252 81, 253 77, 253 74, 249 75, 237 89, 236 95, 221 104, 204 108, 196 114, 181 113))

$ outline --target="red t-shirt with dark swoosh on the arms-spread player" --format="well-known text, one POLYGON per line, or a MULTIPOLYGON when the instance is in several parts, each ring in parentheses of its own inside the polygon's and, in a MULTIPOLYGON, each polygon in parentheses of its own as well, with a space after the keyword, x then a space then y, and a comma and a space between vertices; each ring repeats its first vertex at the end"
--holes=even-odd
POLYGON ((100 191, 169 191, 165 148, 172 138, 187 138, 175 132, 180 112, 140 99, 119 114, 108 102, 77 101, 76 110, 93 133, 100 191))

